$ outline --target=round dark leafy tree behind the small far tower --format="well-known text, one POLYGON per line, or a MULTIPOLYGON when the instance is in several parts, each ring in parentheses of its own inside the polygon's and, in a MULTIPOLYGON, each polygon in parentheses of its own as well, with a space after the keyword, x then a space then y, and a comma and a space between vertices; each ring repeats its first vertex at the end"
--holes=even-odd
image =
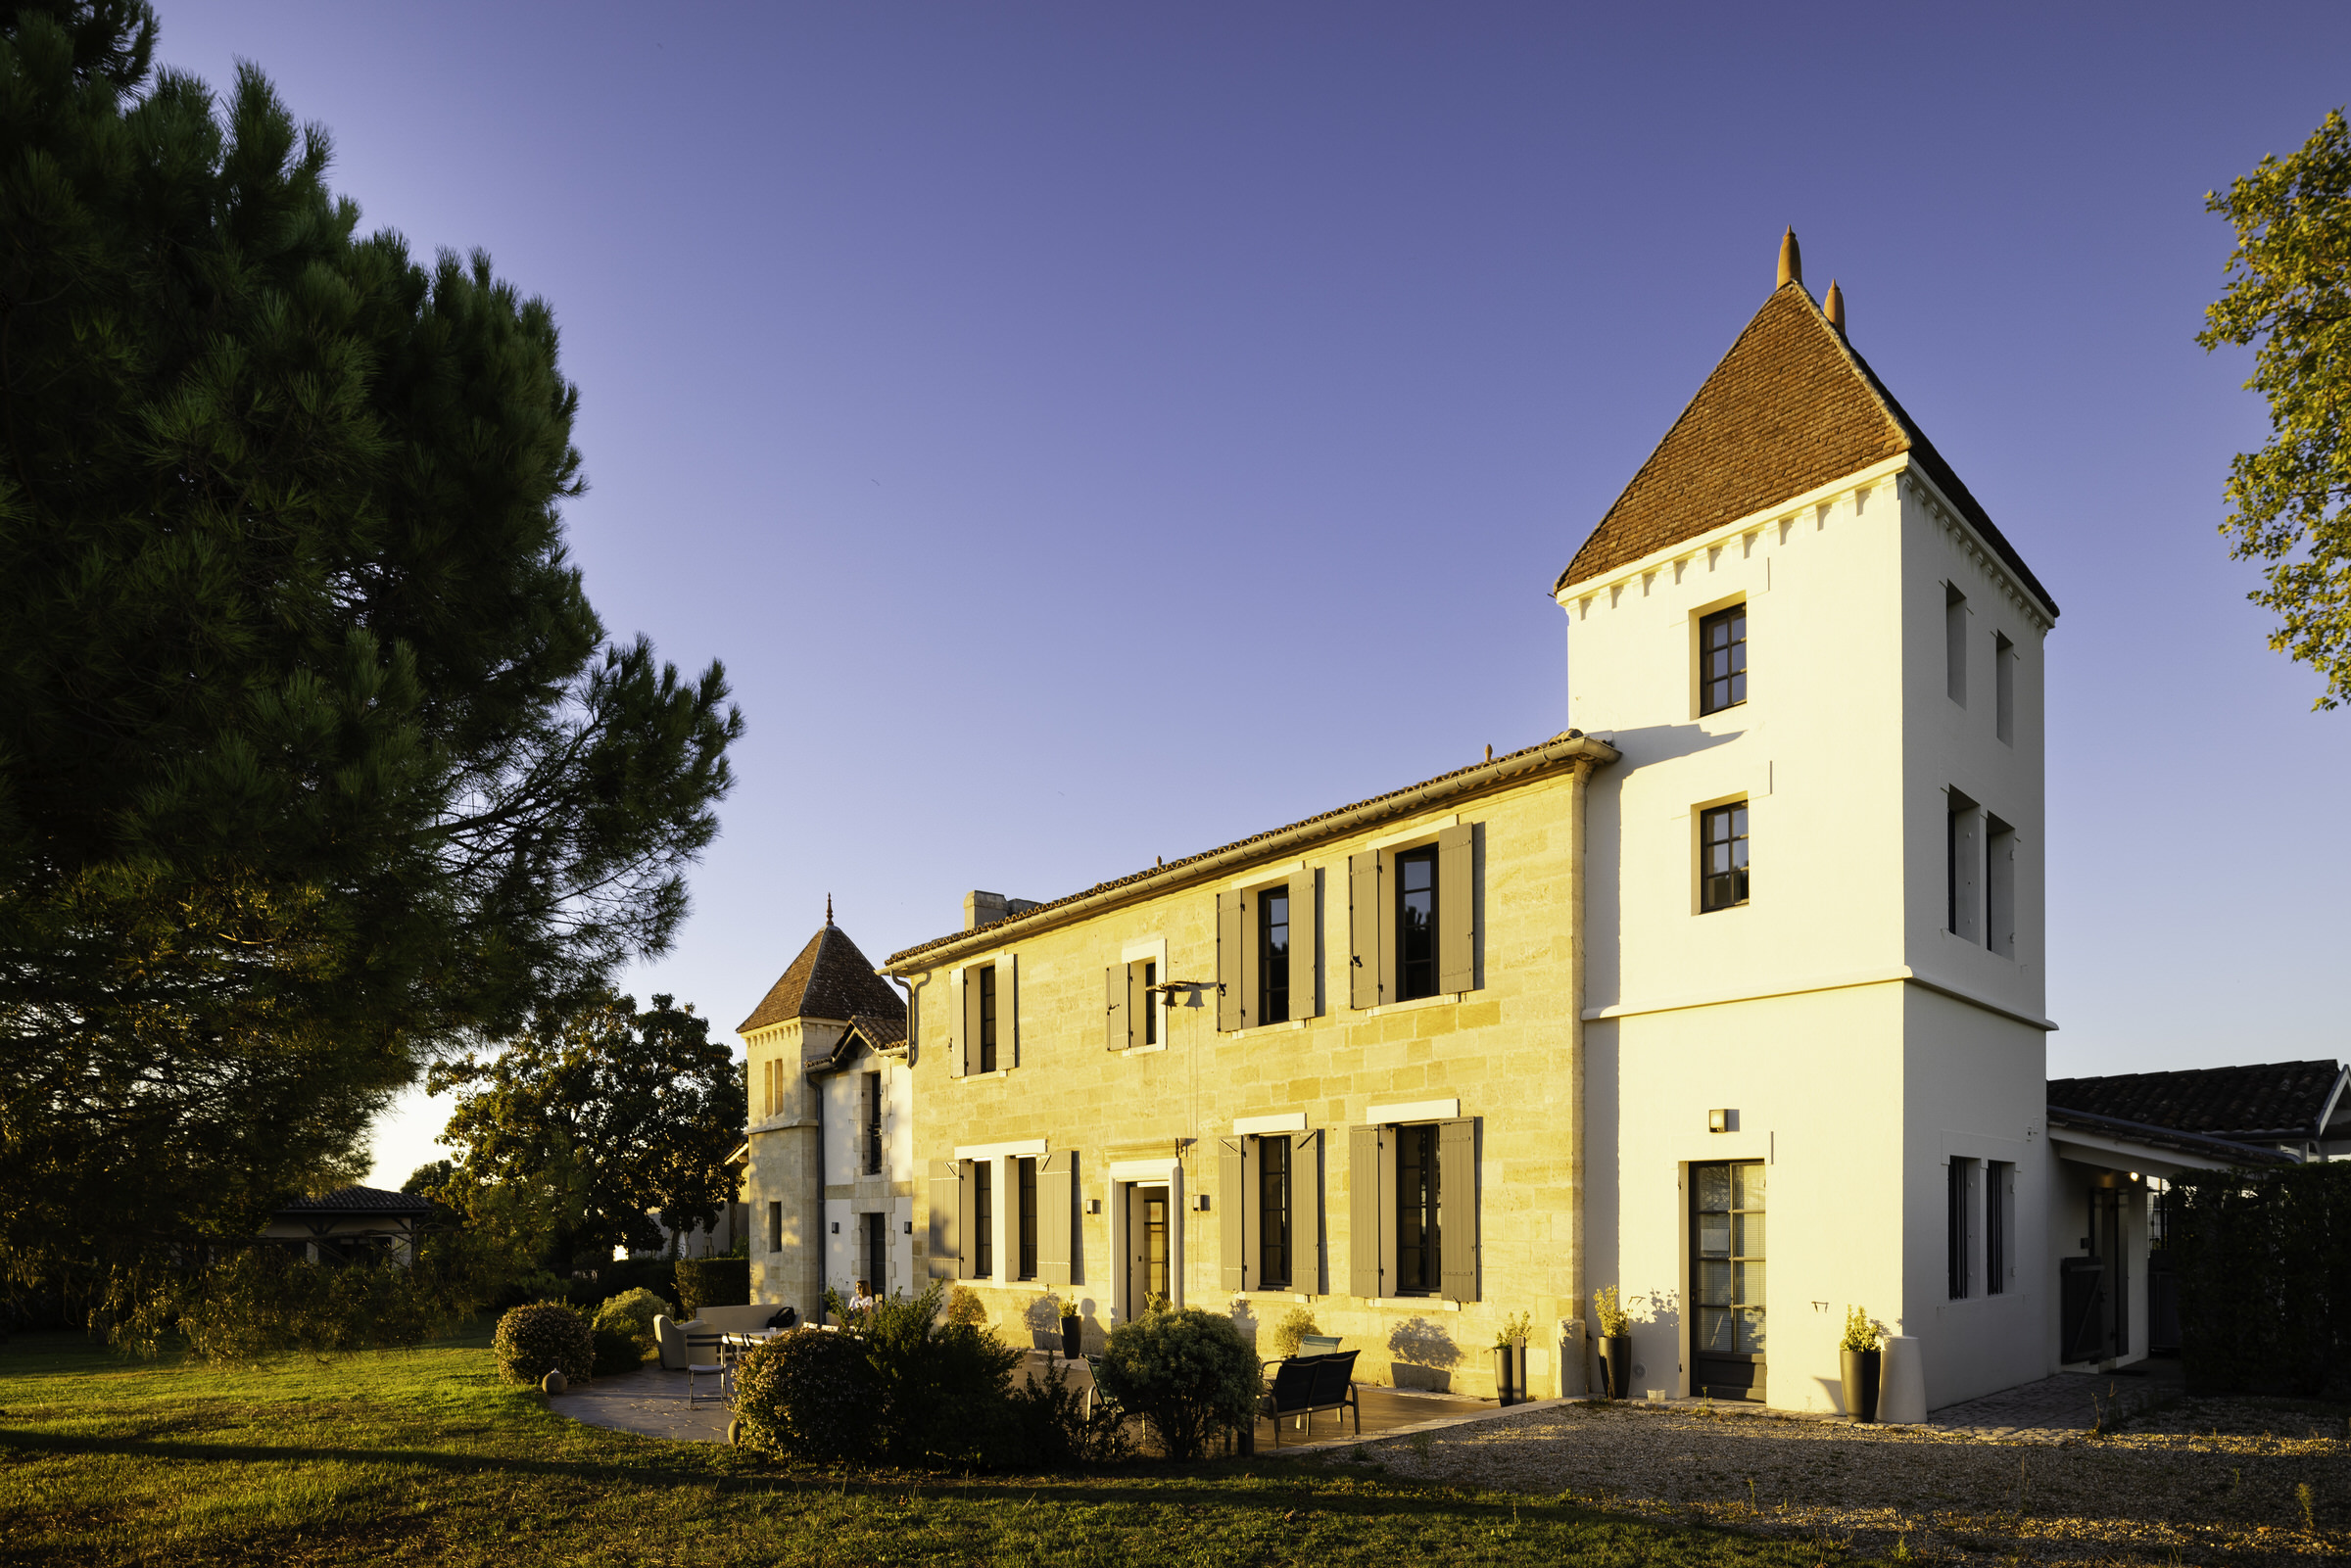
POLYGON ((741 1185, 743 1072, 670 997, 644 1013, 611 994, 545 1013, 496 1053, 435 1063, 428 1081, 461 1091, 442 1143, 463 1147, 458 1173, 482 1190, 552 1194, 567 1173, 574 1206, 545 1222, 555 1267, 661 1246, 647 1211, 670 1229, 712 1225, 741 1185))

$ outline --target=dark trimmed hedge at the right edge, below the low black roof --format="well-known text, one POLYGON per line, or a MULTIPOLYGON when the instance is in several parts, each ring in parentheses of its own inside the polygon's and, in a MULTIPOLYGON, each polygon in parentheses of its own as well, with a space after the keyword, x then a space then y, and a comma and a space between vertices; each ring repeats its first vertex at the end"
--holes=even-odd
POLYGON ((2182 1175, 2168 1251, 2191 1394, 2351 1396, 2351 1161, 2182 1175))

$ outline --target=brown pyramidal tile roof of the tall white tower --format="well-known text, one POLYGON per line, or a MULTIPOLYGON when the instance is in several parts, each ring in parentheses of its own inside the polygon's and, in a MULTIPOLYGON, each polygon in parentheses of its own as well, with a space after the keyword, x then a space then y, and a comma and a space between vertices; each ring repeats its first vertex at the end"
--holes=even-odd
POLYGON ((1552 592, 1909 454, 2048 611, 2057 602, 1801 282, 1773 289, 1552 592))

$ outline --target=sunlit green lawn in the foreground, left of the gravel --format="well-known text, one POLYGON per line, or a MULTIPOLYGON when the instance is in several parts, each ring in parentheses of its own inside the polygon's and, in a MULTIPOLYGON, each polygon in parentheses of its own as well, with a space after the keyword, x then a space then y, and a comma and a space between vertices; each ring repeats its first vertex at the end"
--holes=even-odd
POLYGON ((1326 1474, 795 1469, 550 1413, 487 1340, 252 1368, 0 1347, 0 1563, 1693 1563, 1820 1542, 1326 1474))

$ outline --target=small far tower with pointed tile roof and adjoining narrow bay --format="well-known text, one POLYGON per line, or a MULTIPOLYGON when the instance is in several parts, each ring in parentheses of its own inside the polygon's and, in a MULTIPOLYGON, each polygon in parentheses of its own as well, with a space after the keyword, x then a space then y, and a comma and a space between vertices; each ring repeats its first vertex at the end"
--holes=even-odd
MULTIPOLYGON (((912 1103, 905 1100, 905 999, 832 924, 828 896, 825 924, 750 1018, 736 1025, 736 1034, 743 1037, 750 1072, 750 1171, 743 1178, 752 1229, 750 1293, 757 1302, 797 1307, 813 1321, 828 1284, 868 1276, 860 1246, 875 1234, 905 1251, 905 1267, 912 1265, 905 1244, 912 1208, 903 1220, 891 1194, 893 1185, 912 1182, 912 1173, 889 1171, 886 1159, 882 1173, 865 1171, 870 1161, 860 1143, 868 1126, 898 1133, 896 1143, 912 1131, 900 1126, 912 1121, 912 1103), (879 1077, 879 1084, 865 1084, 865 1077, 879 1077), (868 1103, 877 1091, 882 1098, 868 1103), (828 1185, 849 1185, 851 1197, 828 1204, 828 1185), (828 1208, 842 1208, 842 1215, 828 1208), (872 1215, 882 1222, 875 1225, 872 1215), (832 1220, 842 1220, 839 1234, 832 1220)), ((889 1291, 886 1267, 875 1288, 889 1291)))

